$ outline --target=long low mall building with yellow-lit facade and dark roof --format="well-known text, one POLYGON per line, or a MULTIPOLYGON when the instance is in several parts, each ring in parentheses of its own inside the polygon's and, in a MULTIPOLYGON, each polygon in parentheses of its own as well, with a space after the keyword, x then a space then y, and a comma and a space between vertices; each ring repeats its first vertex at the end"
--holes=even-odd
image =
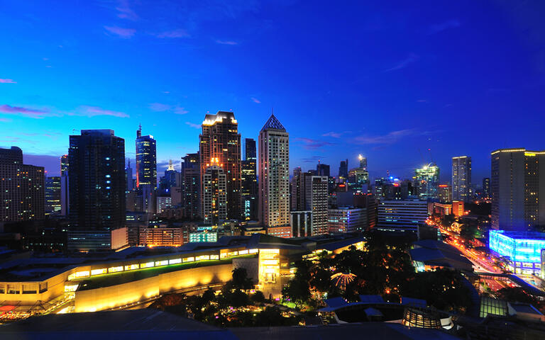
POLYGON ((282 239, 222 237, 180 247, 131 247, 81 257, 18 259, 0 264, 0 323, 33 314, 137 307, 164 293, 218 287, 246 268, 265 296, 279 297, 294 261, 363 246, 360 234, 282 239))

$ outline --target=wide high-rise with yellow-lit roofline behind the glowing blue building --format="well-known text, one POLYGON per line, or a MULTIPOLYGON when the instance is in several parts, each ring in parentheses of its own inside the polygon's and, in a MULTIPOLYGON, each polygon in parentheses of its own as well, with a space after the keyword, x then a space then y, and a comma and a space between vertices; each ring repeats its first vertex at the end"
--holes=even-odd
POLYGON ((545 227, 545 151, 497 149, 492 156, 492 229, 545 227))

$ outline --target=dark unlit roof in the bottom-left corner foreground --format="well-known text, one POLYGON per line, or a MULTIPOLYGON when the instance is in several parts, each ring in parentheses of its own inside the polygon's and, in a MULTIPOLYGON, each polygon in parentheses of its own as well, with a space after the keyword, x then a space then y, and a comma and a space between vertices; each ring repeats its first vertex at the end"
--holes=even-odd
POLYGON ((0 334, 2 340, 236 339, 226 329, 155 309, 49 314, 6 324, 0 334))

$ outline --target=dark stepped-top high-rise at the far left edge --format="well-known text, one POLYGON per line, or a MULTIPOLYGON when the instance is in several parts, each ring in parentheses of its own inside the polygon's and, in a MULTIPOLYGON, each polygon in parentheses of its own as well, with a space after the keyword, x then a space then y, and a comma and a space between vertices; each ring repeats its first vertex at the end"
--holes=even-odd
POLYGON ((18 147, 0 148, 0 222, 44 218, 44 170, 23 164, 18 147))

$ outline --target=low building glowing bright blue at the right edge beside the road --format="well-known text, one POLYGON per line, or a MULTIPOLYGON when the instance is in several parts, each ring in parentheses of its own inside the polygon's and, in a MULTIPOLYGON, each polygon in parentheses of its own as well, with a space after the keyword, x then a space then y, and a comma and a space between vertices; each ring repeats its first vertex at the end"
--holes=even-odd
POLYGON ((541 249, 545 249, 545 233, 490 230, 488 246, 496 254, 510 258, 510 267, 514 273, 541 273, 541 249))

